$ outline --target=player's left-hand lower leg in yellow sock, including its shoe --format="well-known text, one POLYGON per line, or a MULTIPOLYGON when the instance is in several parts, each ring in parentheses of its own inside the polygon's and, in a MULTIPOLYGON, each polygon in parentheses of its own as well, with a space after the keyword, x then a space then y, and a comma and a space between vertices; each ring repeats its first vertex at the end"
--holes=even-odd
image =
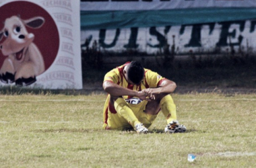
POLYGON ((138 133, 147 133, 148 129, 143 126, 141 122, 137 119, 131 108, 129 108, 127 102, 123 99, 123 97, 113 97, 110 96, 110 103, 113 104, 117 113, 125 118, 131 126, 138 132, 138 133))

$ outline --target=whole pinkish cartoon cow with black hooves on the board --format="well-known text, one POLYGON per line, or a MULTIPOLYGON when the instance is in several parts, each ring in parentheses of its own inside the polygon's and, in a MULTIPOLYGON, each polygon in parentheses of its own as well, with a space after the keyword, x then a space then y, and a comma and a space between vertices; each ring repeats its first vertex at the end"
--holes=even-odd
POLYGON ((20 19, 12 16, 5 19, 0 31, 0 50, 6 56, 0 69, 0 81, 16 85, 30 85, 36 77, 44 72, 44 59, 34 44, 34 34, 28 33, 26 27, 40 28, 44 24, 43 17, 20 19))

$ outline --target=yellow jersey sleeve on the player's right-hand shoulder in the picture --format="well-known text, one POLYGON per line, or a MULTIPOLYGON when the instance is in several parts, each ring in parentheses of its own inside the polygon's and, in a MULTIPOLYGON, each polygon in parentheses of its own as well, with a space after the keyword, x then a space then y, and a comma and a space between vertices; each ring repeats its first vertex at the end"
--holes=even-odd
POLYGON ((146 83, 148 83, 149 87, 158 87, 159 85, 161 85, 164 79, 164 77, 156 72, 153 72, 151 70, 146 71, 146 83))

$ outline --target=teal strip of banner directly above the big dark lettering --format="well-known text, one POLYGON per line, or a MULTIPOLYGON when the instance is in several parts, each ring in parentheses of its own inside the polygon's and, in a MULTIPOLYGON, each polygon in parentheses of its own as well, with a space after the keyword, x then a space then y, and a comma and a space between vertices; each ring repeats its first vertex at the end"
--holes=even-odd
POLYGON ((256 8, 191 8, 144 11, 80 11, 82 30, 149 28, 252 20, 256 8))

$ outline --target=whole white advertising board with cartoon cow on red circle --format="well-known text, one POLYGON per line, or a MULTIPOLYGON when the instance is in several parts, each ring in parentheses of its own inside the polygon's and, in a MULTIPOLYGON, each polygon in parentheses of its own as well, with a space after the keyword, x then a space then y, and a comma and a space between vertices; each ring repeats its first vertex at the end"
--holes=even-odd
POLYGON ((0 0, 0 85, 82 89, 79 0, 0 0))

